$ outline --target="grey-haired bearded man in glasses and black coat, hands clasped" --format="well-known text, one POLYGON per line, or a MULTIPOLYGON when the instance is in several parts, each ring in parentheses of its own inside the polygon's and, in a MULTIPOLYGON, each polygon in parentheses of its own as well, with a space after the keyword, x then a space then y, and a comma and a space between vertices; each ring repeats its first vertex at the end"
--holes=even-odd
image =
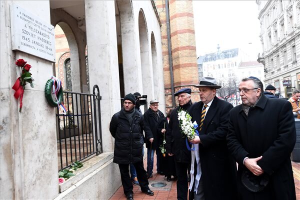
POLYGON ((238 163, 239 199, 295 200, 290 153, 296 140, 291 105, 266 98, 261 81, 243 78, 242 104, 229 113, 227 145, 238 163))

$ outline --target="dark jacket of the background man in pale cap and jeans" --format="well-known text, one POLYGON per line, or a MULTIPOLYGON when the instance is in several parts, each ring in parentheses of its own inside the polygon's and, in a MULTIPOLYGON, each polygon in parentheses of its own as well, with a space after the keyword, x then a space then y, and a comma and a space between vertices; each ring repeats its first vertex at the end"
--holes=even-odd
POLYGON ((152 146, 150 145, 149 139, 146 140, 146 147, 152 149, 159 149, 159 139, 160 135, 157 134, 157 124, 158 122, 164 117, 163 113, 160 110, 157 110, 158 112, 158 120, 155 116, 156 113, 154 113, 151 108, 148 108, 147 111, 143 114, 145 127, 149 128, 151 130, 151 133, 153 135, 153 142, 152 146))

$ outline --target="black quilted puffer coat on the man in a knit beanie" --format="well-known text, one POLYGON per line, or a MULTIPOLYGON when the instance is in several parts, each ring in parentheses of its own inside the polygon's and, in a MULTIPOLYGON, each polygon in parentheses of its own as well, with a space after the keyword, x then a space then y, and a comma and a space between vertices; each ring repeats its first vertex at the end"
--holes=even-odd
MULTIPOLYGON (((141 140, 144 126, 142 114, 134 110, 132 122, 123 114, 123 111, 116 112, 109 124, 109 131, 114 138, 113 162, 117 164, 136 163, 143 160, 141 140)), ((150 138, 148 129, 144 129, 146 138, 150 138)))

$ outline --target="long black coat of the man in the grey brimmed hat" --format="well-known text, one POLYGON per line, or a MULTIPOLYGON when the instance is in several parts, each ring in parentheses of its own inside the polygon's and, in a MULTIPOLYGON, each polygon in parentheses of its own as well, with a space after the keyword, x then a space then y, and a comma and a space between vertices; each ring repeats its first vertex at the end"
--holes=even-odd
MULTIPOLYGON (((191 121, 200 124, 202 107, 201 101, 190 106, 191 121)), ((228 152, 226 141, 231 108, 229 102, 215 96, 205 113, 201 130, 197 128, 201 141, 199 157, 205 200, 234 200, 237 197, 236 163, 228 152)), ((194 167, 196 169, 196 165, 194 167)))

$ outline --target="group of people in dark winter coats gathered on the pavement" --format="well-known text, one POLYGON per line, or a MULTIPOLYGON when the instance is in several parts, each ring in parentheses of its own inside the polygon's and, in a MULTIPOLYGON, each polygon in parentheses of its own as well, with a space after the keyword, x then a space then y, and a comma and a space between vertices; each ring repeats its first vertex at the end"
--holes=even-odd
POLYGON ((125 95, 121 110, 112 116, 113 162, 119 166, 126 198, 133 199, 132 183, 154 195, 148 178, 155 153, 157 173, 167 181, 171 176, 177 180, 177 199, 295 200, 290 153, 296 140, 294 117, 300 118, 300 92, 279 99, 274 86, 264 91, 262 82, 250 76, 240 81, 242 103, 233 107, 216 96, 221 86, 214 78, 202 77, 194 87, 200 101, 192 103, 191 89, 182 88, 175 93, 179 105, 166 117, 156 99, 142 114, 136 105, 138 92, 125 95), (197 124, 193 139, 182 134, 181 110, 197 124), (135 171, 131 177, 129 165, 130 172, 135 171))

